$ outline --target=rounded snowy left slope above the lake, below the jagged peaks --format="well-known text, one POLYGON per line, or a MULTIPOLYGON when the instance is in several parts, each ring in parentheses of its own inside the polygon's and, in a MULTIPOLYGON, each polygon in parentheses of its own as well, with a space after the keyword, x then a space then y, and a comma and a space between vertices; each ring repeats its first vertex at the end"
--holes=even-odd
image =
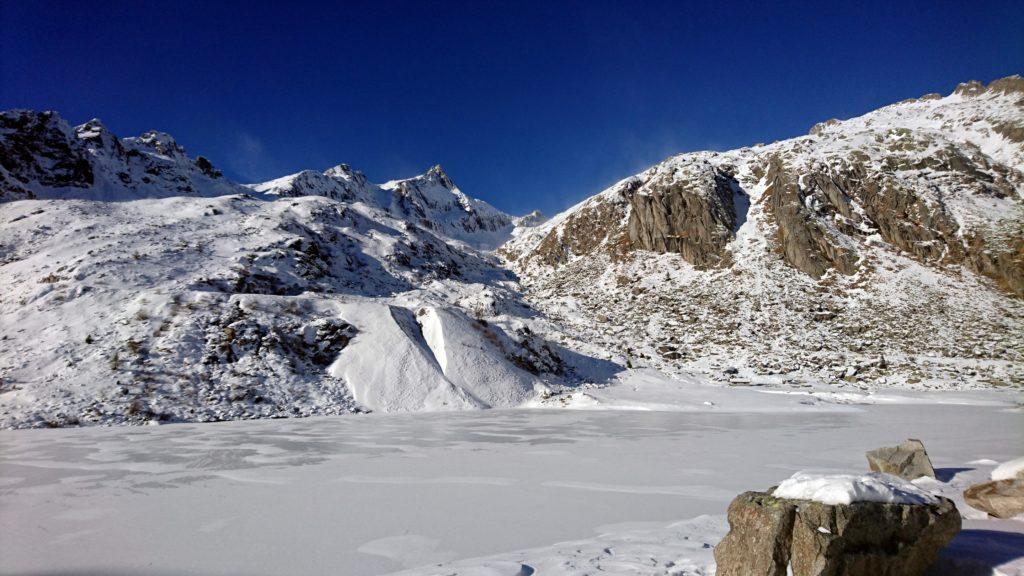
MULTIPOLYGON (((324 197, 0 206, 11 424, 514 406, 562 381, 510 274, 324 197)), ((542 328, 538 328, 543 331, 542 328)))

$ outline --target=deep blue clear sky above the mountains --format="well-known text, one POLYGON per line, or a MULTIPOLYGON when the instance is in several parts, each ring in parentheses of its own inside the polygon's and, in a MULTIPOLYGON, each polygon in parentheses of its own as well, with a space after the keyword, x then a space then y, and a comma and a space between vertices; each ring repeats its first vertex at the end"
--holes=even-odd
POLYGON ((1024 72, 1008 2, 0 2, 0 108, 173 134, 242 181, 441 163, 556 212, 674 153, 1024 72))

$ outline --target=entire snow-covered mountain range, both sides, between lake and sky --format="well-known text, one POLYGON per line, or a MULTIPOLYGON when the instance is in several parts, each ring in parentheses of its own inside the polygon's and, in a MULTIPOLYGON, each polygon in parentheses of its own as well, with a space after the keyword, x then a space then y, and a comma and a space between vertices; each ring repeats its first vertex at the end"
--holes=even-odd
POLYGON ((240 184, 164 133, 5 112, 0 426, 596 402, 639 367, 1019 386, 1022 129, 1024 80, 968 83, 545 220, 439 166, 240 184))

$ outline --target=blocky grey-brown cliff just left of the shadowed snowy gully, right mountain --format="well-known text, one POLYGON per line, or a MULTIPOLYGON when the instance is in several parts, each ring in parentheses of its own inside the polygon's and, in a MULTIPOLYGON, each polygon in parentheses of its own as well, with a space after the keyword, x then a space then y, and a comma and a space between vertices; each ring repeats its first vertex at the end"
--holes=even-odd
POLYGON ((630 242, 634 248, 679 253, 699 268, 728 261, 738 186, 711 165, 680 172, 655 173, 628 195, 630 242))

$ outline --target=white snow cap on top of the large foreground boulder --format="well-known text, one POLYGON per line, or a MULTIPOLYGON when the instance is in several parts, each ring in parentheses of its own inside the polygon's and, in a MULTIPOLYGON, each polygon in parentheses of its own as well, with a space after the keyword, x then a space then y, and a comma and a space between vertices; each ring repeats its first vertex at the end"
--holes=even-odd
POLYGON ((892 475, 869 472, 855 475, 813 475, 797 472, 772 492, 776 498, 813 500, 822 504, 853 502, 889 502, 896 504, 934 504, 938 498, 892 475))

